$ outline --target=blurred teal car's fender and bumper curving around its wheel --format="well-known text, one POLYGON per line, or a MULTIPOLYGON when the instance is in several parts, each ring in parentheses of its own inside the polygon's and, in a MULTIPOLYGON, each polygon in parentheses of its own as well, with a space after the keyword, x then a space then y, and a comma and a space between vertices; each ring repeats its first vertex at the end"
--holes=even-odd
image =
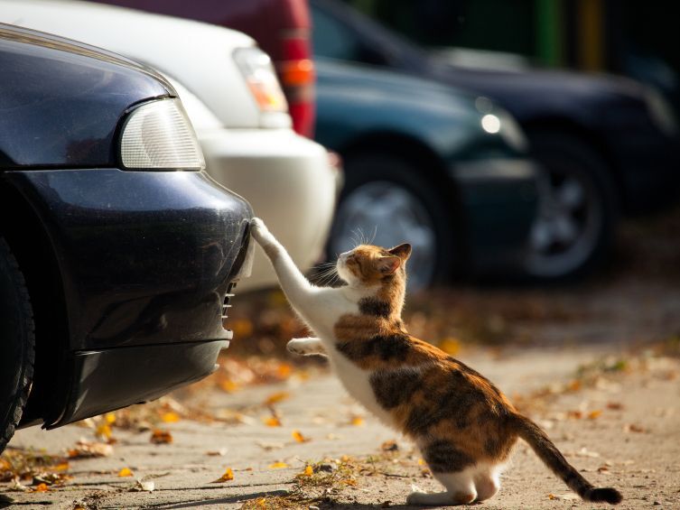
MULTIPOLYGON (((501 119, 492 134, 483 129, 474 98, 452 88, 334 60, 317 60, 317 71, 321 144, 341 155, 377 136, 424 147, 442 168, 452 211, 461 214, 464 233, 456 235, 466 238, 465 270, 521 267, 536 216, 537 167, 508 144, 502 108, 492 107, 501 119)), ((422 169, 430 178, 432 171, 422 169)))

